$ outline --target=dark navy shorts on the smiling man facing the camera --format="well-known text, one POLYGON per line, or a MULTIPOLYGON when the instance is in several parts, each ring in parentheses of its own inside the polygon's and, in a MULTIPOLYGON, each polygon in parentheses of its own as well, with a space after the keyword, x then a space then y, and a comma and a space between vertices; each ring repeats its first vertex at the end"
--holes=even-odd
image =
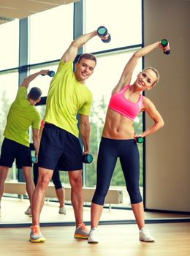
POLYGON ((39 146, 38 165, 50 170, 81 170, 82 148, 75 135, 53 124, 45 124, 39 146))

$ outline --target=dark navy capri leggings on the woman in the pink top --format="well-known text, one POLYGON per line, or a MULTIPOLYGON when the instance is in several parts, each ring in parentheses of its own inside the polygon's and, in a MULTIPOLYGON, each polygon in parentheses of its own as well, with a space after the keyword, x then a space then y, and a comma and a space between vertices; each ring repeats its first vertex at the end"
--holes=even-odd
POLYGON ((120 158, 131 203, 142 202, 139 189, 140 160, 136 141, 134 139, 113 140, 102 138, 97 161, 96 190, 92 203, 104 205, 104 198, 110 187, 118 157, 120 158))

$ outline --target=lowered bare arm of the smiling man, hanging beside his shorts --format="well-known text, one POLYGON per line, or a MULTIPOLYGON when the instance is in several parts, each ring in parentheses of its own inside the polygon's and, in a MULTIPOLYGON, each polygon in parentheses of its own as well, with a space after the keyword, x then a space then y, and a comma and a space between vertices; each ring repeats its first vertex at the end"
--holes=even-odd
POLYGON ((90 123, 89 117, 79 114, 80 118, 80 137, 83 141, 84 152, 83 154, 89 153, 89 140, 90 140, 90 123))

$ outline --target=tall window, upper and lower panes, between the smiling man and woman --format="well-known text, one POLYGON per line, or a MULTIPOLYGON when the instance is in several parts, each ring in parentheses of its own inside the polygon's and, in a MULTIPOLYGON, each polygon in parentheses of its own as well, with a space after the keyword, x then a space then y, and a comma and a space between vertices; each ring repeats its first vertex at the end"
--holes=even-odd
MULTIPOLYGON (((90 117, 90 153, 94 156, 94 162, 91 165, 85 165, 83 172, 83 184, 86 187, 95 187, 97 152, 111 91, 118 83, 123 68, 134 50, 142 46, 142 1, 86 0, 84 2, 85 23, 83 27, 86 33, 94 31, 99 26, 106 26, 111 35, 109 43, 104 43, 99 37, 94 37, 83 48, 86 53, 98 53, 94 74, 86 80, 94 97, 90 117)), ((139 61, 134 70, 132 82, 141 70, 142 61, 139 61)), ((135 119, 134 129, 137 133, 142 131, 142 114, 135 119)), ((140 151, 140 186, 142 186, 142 144, 138 147, 140 151)), ((119 162, 115 166, 111 186, 126 190, 119 162)), ((126 195, 126 192, 123 195, 126 195)), ((129 204, 129 196, 126 195, 126 198, 123 198, 123 206, 129 206, 129 204)))

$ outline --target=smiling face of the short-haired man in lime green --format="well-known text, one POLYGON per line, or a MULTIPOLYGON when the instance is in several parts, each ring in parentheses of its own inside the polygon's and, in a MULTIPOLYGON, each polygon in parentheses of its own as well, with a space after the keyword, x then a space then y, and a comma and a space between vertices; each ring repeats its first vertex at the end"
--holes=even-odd
POLYGON ((79 82, 82 82, 92 75, 95 67, 95 61, 83 58, 80 60, 80 63, 77 62, 76 64, 75 77, 79 82))

